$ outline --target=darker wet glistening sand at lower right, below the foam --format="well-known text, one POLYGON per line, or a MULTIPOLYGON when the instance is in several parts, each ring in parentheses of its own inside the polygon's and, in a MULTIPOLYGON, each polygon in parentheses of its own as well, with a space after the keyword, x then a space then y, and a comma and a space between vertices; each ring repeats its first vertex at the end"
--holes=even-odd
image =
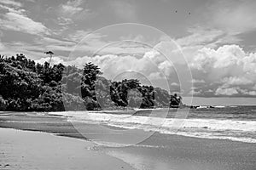
POLYGON ((138 169, 254 170, 256 144, 154 133, 137 146, 106 151, 138 169))

